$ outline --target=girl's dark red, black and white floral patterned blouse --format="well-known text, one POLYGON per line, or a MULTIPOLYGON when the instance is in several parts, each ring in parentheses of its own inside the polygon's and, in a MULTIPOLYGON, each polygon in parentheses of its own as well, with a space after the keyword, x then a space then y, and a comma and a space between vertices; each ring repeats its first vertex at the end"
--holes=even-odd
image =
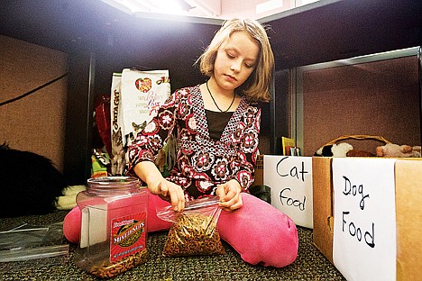
POLYGON ((139 132, 127 150, 129 172, 141 161, 154 161, 171 137, 177 155, 168 180, 181 186, 187 200, 216 195, 216 186, 236 179, 246 191, 254 179, 261 108, 243 96, 219 141, 209 137, 199 86, 177 90, 139 132))

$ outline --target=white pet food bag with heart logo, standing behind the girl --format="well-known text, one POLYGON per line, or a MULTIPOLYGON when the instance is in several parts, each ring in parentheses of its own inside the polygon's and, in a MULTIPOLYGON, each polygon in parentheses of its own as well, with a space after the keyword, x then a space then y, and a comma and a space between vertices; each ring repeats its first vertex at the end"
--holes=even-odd
POLYGON ((111 87, 112 174, 123 175, 124 152, 170 96, 169 70, 124 68, 111 87))

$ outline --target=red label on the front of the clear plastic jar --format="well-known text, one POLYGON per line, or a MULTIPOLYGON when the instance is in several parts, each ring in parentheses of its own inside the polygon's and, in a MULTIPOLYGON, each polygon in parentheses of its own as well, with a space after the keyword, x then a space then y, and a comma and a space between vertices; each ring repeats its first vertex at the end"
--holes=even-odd
POLYGON ((146 213, 134 213, 112 219, 110 239, 110 262, 132 256, 145 249, 146 213))

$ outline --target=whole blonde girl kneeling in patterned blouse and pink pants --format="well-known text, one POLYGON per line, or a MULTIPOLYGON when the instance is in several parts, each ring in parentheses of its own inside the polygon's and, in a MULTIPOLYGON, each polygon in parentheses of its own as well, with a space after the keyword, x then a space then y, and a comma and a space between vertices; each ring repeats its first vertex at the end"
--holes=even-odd
POLYGON ((270 100, 274 58, 267 33, 253 20, 226 21, 197 62, 206 83, 171 95, 127 150, 128 175, 151 192, 148 231, 170 228, 156 208, 170 203, 180 212, 186 201, 218 195, 226 211, 217 223, 222 239, 246 262, 285 267, 298 254, 296 226, 248 193, 259 154, 256 102, 270 100), (154 162, 174 140, 175 163, 163 177, 154 162))

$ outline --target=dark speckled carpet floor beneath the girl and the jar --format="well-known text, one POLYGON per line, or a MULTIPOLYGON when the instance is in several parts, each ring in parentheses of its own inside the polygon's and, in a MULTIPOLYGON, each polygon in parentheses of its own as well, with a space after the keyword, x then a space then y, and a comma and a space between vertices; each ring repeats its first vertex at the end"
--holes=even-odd
MULTIPOLYGON (((34 225, 61 222, 66 212, 58 211, 41 216, 0 219, 0 230, 16 220, 34 225)), ((299 251, 297 260, 289 267, 273 268, 252 266, 224 242, 226 254, 219 256, 164 258, 167 231, 149 233, 148 260, 126 271, 114 280, 345 280, 341 273, 316 249, 312 230, 298 227, 299 251)), ((96 280, 96 277, 79 269, 73 261, 76 246, 69 247, 69 261, 57 265, 15 267, 5 270, 0 263, 0 280, 96 280)))

